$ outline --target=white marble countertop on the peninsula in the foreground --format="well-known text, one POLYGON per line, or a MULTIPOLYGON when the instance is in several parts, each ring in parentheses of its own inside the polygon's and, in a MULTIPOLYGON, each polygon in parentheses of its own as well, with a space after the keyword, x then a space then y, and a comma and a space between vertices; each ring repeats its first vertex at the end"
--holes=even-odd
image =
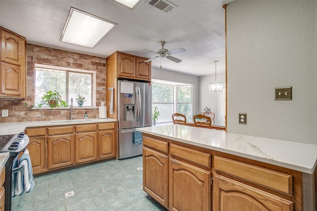
POLYGON ((317 145, 313 144, 182 125, 141 127, 137 130, 309 174, 314 172, 317 164, 317 145))

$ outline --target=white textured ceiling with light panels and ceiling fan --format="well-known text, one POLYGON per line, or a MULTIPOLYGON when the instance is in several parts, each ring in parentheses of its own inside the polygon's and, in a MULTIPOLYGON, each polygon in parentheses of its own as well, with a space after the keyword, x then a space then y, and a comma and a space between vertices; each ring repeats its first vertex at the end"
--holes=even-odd
MULTIPOLYGON (((230 1, 230 0, 229 0, 230 1)), ((195 76, 225 69, 225 38, 223 0, 169 0, 176 5, 165 13, 142 0, 134 10, 113 0, 0 0, 0 26, 26 37, 27 42, 62 50, 106 58, 122 51, 147 58, 157 54, 159 41, 166 41, 169 50, 183 47, 187 51, 172 56, 180 63, 166 58, 162 69, 195 76), (59 42, 70 7, 118 23, 95 48, 59 42)), ((159 68, 160 59, 152 61, 159 68)))

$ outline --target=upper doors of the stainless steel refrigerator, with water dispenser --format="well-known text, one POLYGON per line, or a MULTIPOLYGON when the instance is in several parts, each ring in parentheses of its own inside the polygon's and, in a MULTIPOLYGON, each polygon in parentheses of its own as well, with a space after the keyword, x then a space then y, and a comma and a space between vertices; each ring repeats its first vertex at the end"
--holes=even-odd
POLYGON ((151 126, 151 117, 151 84, 118 81, 119 129, 151 126))

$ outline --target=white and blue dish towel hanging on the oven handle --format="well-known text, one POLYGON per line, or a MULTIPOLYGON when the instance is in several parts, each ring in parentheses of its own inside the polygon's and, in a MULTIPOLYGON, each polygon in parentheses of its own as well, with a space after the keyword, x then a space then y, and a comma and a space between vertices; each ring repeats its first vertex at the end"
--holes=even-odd
MULTIPOLYGON (((25 150, 23 155, 21 156, 19 160, 20 165, 24 165, 24 170, 23 170, 23 183, 24 183, 24 191, 27 193, 30 193, 30 191, 34 188, 34 178, 33 178, 33 170, 32 170, 32 164, 31 164, 31 158, 29 155, 29 150, 25 150)), ((21 172, 18 172, 21 174, 21 172)), ((17 175, 18 177, 18 175, 17 175)), ((21 175, 22 177, 22 175, 21 175)), ((22 179, 22 178, 21 178, 22 179)), ((17 184, 18 184, 18 179, 17 179, 17 184)), ((23 184, 22 183, 22 184, 23 184)), ((20 193, 19 195, 23 194, 20 193)), ((15 193, 17 195, 17 192, 15 193)))

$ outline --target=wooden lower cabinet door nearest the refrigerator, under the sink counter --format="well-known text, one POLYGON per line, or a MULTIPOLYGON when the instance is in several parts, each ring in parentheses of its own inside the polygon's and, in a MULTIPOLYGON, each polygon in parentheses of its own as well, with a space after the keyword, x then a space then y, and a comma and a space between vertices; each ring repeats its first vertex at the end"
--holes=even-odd
POLYGON ((115 132, 111 130, 101 130, 98 132, 98 159, 115 157, 115 132))

